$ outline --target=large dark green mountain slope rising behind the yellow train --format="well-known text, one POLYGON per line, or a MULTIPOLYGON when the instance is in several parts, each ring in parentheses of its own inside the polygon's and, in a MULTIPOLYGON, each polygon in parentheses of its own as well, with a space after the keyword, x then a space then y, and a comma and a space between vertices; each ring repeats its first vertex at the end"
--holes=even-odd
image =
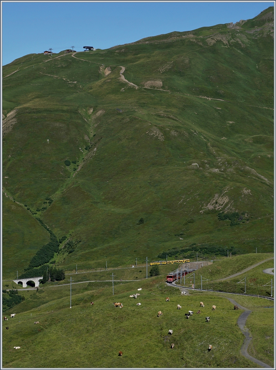
POLYGON ((192 243, 272 252, 273 7, 5 65, 3 194, 4 279, 50 240, 36 217, 78 242, 52 259, 65 270, 192 243))

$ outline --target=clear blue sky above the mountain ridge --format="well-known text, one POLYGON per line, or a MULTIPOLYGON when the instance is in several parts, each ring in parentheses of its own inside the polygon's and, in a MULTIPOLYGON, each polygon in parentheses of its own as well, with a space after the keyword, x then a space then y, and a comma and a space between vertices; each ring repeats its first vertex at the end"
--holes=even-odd
POLYGON ((273 1, 2 1, 2 64, 48 48, 110 48, 172 31, 250 19, 273 1))

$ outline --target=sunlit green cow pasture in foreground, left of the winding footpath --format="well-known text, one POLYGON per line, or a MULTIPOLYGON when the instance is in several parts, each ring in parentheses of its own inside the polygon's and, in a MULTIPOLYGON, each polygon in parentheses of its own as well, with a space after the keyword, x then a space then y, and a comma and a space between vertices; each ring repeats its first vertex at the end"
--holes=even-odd
MULTIPOLYGON (((72 309, 70 286, 26 292, 25 301, 13 308, 16 316, 9 319, 9 330, 3 328, 3 366, 257 367, 239 353, 243 335, 236 321, 241 311, 234 311, 227 299, 206 292, 181 297, 179 290, 166 286, 161 277, 119 283, 114 296, 111 285, 106 285, 73 285, 72 309), (139 299, 130 298, 138 287, 142 287, 139 299), (166 296, 170 302, 165 302, 166 296), (185 312, 196 312, 201 300, 205 304, 202 313, 187 320, 185 312), (114 308, 115 301, 124 307, 114 308), (177 304, 182 305, 181 310, 177 304), (213 304, 216 311, 211 310, 213 304), (163 313, 159 318, 158 310, 163 313), (205 316, 211 316, 210 323, 205 323, 205 316), (34 321, 39 324, 34 325, 34 321), (169 329, 172 336, 168 336, 169 329), (101 351, 95 351, 98 343, 101 351), (175 344, 173 350, 171 343, 175 344), (209 344, 213 346, 210 353, 209 344), (21 349, 15 351, 14 346, 21 349), (84 349, 93 355, 83 356, 84 349)), ((256 303, 259 307, 263 301, 252 300, 250 309, 256 303)), ((259 320, 265 323, 262 316, 259 320)), ((258 336, 256 330, 257 340, 258 336)))

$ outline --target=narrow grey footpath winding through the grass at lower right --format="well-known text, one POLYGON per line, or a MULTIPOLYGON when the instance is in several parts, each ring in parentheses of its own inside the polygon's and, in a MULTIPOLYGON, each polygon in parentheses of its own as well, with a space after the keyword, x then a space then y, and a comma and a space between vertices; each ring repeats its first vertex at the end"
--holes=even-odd
POLYGON ((263 361, 255 359, 255 357, 252 357, 252 356, 250 356, 250 354, 248 354, 247 349, 248 349, 250 341, 252 340, 252 336, 250 335, 248 329, 245 329, 245 323, 246 323, 246 320, 247 320, 249 314, 252 311, 250 311, 246 307, 243 307, 243 306, 239 305, 239 303, 237 303, 232 298, 228 298, 228 297, 225 297, 225 296, 220 296, 220 297, 228 299, 233 305, 236 305, 240 309, 244 310, 244 312, 239 316, 238 321, 237 321, 237 324, 238 324, 240 330, 242 331, 243 335, 245 336, 245 340, 243 341, 242 347, 240 348, 240 353, 242 354, 242 356, 246 357, 248 360, 253 361, 253 362, 255 362, 256 364, 258 364, 262 367, 272 369, 272 367, 269 366, 268 364, 265 364, 263 361))

